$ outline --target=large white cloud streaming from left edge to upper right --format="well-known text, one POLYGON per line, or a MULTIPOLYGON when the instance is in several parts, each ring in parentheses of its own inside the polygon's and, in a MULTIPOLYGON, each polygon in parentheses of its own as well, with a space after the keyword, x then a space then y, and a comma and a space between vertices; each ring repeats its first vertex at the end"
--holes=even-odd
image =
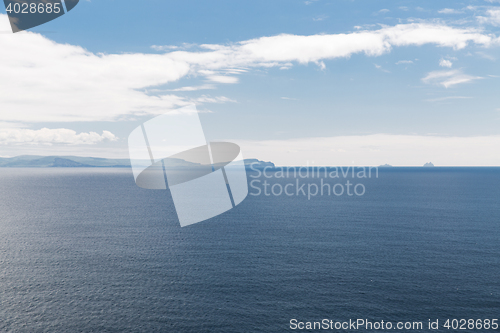
MULTIPOLYGON (((0 14, 0 30, 8 29, 7 16, 0 14)), ((493 41, 492 36, 474 29, 412 23, 347 34, 282 34, 228 45, 200 45, 196 51, 96 54, 33 32, 4 34, 0 39, 0 116, 4 122, 34 123, 161 114, 189 100, 149 92, 188 75, 234 84, 238 82, 235 75, 252 67, 314 63, 324 69, 326 59, 379 56, 393 47, 434 44, 462 49, 469 43, 488 46, 493 41)))

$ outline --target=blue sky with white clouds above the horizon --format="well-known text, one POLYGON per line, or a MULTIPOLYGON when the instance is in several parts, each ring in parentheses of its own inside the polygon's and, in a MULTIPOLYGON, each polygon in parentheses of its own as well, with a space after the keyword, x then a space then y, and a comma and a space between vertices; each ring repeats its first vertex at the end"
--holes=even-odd
POLYGON ((500 1, 81 0, 13 34, 0 156, 127 158, 195 104, 277 165, 500 166, 500 1))

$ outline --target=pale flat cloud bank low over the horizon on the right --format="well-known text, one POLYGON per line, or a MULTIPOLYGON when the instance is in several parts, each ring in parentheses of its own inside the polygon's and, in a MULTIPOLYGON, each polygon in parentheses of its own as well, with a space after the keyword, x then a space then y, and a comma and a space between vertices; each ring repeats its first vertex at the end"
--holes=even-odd
POLYGON ((498 166, 500 135, 445 137, 374 134, 302 138, 293 140, 238 141, 245 156, 280 166, 382 165, 498 166), (353 162, 354 161, 354 162, 353 162))

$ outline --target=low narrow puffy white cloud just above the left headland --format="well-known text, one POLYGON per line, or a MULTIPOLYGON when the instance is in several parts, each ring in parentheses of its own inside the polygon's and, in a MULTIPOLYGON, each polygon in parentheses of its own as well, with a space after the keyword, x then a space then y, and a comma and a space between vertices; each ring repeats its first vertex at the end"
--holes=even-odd
POLYGON ((105 140, 116 141, 118 138, 111 132, 103 131, 102 135, 95 132, 79 133, 65 128, 40 130, 4 128, 0 129, 0 145, 30 144, 30 145, 92 145, 105 140))

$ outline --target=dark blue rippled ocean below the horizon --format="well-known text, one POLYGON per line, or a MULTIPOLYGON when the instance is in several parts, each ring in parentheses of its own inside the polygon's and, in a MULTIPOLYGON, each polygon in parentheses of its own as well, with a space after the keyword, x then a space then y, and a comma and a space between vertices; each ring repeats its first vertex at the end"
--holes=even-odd
POLYGON ((181 228, 129 169, 0 169, 0 332, 500 319, 500 168, 381 168, 350 179, 363 195, 309 198, 262 184, 320 179, 253 177, 236 208, 181 228))

